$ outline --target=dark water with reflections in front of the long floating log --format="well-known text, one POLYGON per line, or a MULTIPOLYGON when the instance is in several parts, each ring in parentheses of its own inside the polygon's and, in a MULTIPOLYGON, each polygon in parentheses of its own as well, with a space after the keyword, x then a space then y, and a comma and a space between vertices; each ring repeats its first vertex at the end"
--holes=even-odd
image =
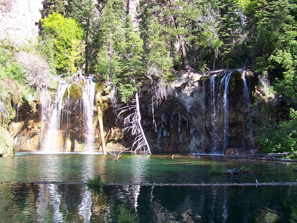
POLYGON ((296 222, 293 186, 0 186, 0 222, 296 222))

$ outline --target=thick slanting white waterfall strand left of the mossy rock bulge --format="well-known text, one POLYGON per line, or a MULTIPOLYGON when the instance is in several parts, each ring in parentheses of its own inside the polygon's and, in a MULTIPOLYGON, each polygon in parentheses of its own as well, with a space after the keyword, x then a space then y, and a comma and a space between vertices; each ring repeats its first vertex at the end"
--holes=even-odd
POLYGON ((53 110, 50 114, 47 126, 45 141, 42 145, 43 151, 53 152, 58 149, 58 139, 60 130, 61 109, 63 105, 63 96, 69 84, 59 84, 56 90, 53 110))

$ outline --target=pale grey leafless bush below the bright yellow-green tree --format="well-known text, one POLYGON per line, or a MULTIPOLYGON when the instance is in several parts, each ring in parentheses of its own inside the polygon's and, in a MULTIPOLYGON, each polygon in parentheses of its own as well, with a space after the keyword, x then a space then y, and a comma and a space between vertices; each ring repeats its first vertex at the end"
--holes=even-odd
POLYGON ((18 61, 23 65, 28 85, 36 89, 37 95, 43 85, 51 85, 54 75, 43 56, 37 53, 21 52, 18 55, 18 61))

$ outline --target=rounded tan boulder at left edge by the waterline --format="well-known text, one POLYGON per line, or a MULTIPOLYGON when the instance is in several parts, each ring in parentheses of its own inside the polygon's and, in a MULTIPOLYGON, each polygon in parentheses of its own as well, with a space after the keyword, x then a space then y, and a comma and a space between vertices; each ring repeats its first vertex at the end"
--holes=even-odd
POLYGON ((15 145, 10 133, 0 126, 0 157, 15 155, 15 145))

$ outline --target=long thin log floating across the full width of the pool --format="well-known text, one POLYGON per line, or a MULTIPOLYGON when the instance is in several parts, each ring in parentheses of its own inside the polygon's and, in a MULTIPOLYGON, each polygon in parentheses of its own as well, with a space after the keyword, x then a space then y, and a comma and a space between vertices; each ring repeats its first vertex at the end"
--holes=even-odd
MULTIPOLYGON (((34 181, 34 182, 7 182, 4 183, 25 183, 25 184, 81 184, 86 182, 59 182, 59 181, 34 181)), ((2 183, 2 182, 1 182, 2 183)), ((297 186, 296 182, 280 183, 102 183, 102 186, 297 186)))

